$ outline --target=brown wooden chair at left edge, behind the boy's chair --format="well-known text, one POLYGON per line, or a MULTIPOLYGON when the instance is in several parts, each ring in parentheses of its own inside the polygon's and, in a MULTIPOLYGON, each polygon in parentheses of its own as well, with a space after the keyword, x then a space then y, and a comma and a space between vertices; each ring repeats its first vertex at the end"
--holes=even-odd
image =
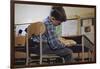
POLYGON ((25 64, 25 59, 25 36, 15 36, 15 64, 25 64))

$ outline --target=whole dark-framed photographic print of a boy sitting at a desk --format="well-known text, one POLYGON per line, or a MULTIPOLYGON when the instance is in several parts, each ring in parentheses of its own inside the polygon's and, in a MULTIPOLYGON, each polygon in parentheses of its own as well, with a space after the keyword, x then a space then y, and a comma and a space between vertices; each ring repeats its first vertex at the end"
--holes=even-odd
POLYGON ((11 68, 96 63, 96 6, 11 0, 11 68))

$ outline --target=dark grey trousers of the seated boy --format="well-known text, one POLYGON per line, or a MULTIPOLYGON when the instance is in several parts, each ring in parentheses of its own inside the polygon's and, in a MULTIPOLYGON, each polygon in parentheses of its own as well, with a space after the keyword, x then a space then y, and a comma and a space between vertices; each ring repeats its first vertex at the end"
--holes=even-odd
MULTIPOLYGON (((31 51, 37 54, 40 53, 39 50, 40 50, 39 46, 35 48, 31 48, 31 51)), ((66 63, 73 62, 73 55, 72 55, 73 52, 71 49, 67 47, 52 50, 48 45, 43 45, 42 51, 43 51, 43 54, 56 54, 60 57, 63 57, 66 63)))

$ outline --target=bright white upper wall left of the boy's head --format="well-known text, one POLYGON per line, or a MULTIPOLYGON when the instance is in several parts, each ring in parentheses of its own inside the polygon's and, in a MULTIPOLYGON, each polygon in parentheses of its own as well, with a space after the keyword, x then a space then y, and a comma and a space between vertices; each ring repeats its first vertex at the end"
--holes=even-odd
POLYGON ((15 24, 42 21, 50 13, 51 6, 16 4, 15 24))

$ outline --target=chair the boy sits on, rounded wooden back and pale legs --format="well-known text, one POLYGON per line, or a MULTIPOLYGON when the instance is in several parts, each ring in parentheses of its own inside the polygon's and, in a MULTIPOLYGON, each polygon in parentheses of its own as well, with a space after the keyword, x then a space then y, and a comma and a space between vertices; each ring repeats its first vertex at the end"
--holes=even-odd
MULTIPOLYGON (((27 60, 26 60, 26 65, 29 65, 30 63, 30 57, 32 54, 34 53, 30 53, 30 49, 29 49, 29 38, 31 38, 31 36, 33 35, 36 35, 36 36, 39 36, 40 37, 40 42, 38 42, 39 44, 39 48, 40 48, 40 54, 39 55, 35 55, 35 56, 39 56, 39 63, 42 64, 43 62, 43 58, 48 58, 50 59, 50 56, 51 58, 59 58, 59 56, 56 56, 53 54, 52 55, 43 55, 42 53, 42 46, 43 46, 43 43, 46 43, 42 40, 42 34, 45 32, 45 25, 42 23, 42 22, 36 22, 36 23, 32 23, 28 26, 27 28, 27 34, 26 34, 26 37, 27 37, 27 43, 26 43, 26 52, 27 52, 27 60)), ((33 55, 34 56, 34 55, 33 55)))

